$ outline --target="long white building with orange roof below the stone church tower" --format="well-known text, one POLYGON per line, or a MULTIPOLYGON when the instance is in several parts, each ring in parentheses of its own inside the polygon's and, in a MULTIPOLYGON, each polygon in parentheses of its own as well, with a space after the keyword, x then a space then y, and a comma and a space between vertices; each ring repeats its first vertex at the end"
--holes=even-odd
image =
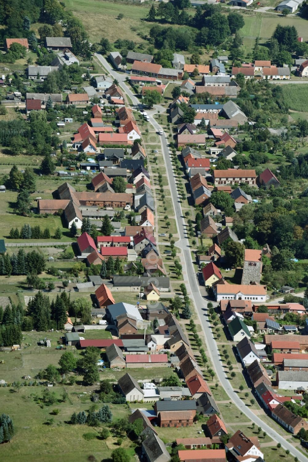
POLYGON ((217 284, 215 287, 217 302, 220 300, 254 300, 266 302, 266 286, 243 284, 217 284))

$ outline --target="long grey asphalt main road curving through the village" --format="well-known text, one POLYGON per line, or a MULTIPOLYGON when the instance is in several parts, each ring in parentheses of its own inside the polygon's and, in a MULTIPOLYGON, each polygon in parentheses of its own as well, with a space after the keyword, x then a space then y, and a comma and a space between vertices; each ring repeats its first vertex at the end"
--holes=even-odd
MULTIPOLYGON (((102 55, 99 55, 97 53, 95 55, 97 56, 97 59, 101 61, 105 69, 114 77, 114 79, 117 79, 119 81, 119 85, 125 91, 125 93, 127 93, 127 95, 131 98, 133 104, 140 105, 139 100, 133 95, 133 92, 131 91, 131 89, 124 82, 126 75, 115 72, 110 67, 109 63, 105 60, 105 58, 102 55)), ((161 127, 156 122, 153 116, 150 114, 149 116, 150 116, 151 125, 155 128, 155 130, 157 132, 159 130, 163 130, 163 127, 161 127)), ((238 394, 233 390, 231 381, 226 377, 226 374, 223 370, 222 362, 220 360, 220 356, 218 353, 217 344, 216 344, 216 341, 214 340, 214 337, 213 337, 213 334, 210 328, 210 324, 208 321, 208 317, 207 317, 207 307, 206 307, 207 300, 201 296, 201 293, 199 290, 199 284, 198 284, 195 271, 193 268, 193 261, 191 258, 189 242, 187 239, 186 224, 185 224, 184 216, 181 210, 180 197, 177 192, 175 175, 174 175, 171 158, 170 158, 171 150, 169 149, 168 140, 165 134, 163 134, 163 136, 160 136, 160 142, 162 145, 164 162, 166 164, 169 187, 170 187, 170 192, 171 192, 171 199, 172 199, 172 203, 173 203, 173 207, 175 211, 176 225, 177 225, 177 229, 178 229, 179 236, 180 236, 180 239, 176 242, 175 245, 182 250, 182 254, 184 256, 182 263, 184 265, 184 268, 183 268, 184 272, 187 274, 187 280, 185 280, 185 283, 187 284, 187 292, 189 292, 190 296, 193 298, 193 301, 194 301, 194 304, 195 304, 195 307, 196 307, 196 310, 197 310, 197 313, 198 313, 198 316, 201 322, 201 326, 204 331, 205 341, 207 343, 207 350, 209 352, 209 356, 211 357, 213 368, 217 375, 217 381, 219 381, 220 384, 223 386, 226 393, 229 395, 230 400, 233 401, 236 407, 238 407, 238 409, 240 409, 240 411, 242 411, 242 413, 245 414, 249 420, 254 422, 257 426, 260 426, 263 432, 266 432, 267 435, 270 436, 274 441, 276 441, 277 443, 280 443, 281 446, 285 450, 287 449, 290 450, 290 453, 293 454, 293 456, 296 456, 299 461, 307 462, 308 458, 306 456, 304 456, 292 444, 290 444, 287 440, 285 440, 284 437, 279 435, 277 432, 275 432, 275 430, 273 430, 270 426, 268 426, 261 419, 259 419, 259 417, 257 417, 250 410, 250 408, 247 407, 242 402, 238 394)))

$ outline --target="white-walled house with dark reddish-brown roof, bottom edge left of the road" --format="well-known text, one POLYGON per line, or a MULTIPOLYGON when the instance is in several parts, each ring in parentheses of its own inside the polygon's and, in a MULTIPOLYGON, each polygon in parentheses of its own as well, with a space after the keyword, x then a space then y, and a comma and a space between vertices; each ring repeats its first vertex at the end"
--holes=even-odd
POLYGON ((225 446, 226 452, 230 452, 236 461, 243 460, 253 462, 258 457, 263 459, 263 453, 260 451, 260 443, 258 437, 250 437, 244 435, 241 430, 238 430, 225 446))

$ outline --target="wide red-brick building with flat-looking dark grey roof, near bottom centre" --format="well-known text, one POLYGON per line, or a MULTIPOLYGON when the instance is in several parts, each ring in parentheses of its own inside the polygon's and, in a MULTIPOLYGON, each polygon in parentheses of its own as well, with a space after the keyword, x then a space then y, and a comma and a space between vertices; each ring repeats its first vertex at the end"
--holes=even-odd
POLYGON ((154 410, 160 427, 188 427, 193 425, 196 401, 156 401, 154 410))

